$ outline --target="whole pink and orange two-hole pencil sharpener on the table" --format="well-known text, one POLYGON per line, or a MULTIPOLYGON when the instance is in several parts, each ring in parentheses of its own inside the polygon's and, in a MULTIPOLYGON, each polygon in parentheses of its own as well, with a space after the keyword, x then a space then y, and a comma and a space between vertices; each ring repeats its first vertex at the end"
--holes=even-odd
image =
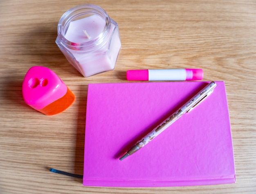
POLYGON ((43 66, 33 66, 27 71, 22 84, 22 94, 29 106, 46 115, 62 112, 74 101, 74 95, 58 75, 43 66))

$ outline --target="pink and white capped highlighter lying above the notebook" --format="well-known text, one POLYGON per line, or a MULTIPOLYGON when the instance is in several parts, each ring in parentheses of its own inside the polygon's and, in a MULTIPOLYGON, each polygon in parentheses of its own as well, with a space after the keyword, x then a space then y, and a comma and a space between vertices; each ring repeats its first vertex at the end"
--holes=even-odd
POLYGON ((202 80, 202 69, 143 69, 128 70, 127 80, 130 81, 192 81, 202 80))

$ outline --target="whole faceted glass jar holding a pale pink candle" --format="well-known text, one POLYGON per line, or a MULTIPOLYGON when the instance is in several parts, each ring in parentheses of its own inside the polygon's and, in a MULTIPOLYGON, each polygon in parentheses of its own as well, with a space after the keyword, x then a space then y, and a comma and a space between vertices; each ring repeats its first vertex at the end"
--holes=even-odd
POLYGON ((63 14, 56 44, 84 77, 114 69, 121 49, 117 22, 92 4, 73 7, 63 14))

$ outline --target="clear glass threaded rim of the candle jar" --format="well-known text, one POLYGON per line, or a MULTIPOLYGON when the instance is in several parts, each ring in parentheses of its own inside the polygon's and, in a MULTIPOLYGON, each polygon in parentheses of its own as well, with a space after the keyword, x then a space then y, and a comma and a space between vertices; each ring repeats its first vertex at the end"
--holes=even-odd
POLYGON ((94 5, 94 4, 81 4, 77 5, 76 7, 72 7, 71 9, 67 10, 58 22, 58 37, 61 42, 70 49, 74 50, 83 50, 84 48, 90 50, 97 49, 102 43, 106 42, 108 33, 111 27, 111 20, 108 13, 101 7, 94 5), (99 15, 103 20, 105 20, 105 26, 103 31, 95 37, 93 40, 89 40, 88 42, 76 43, 71 42, 65 38, 65 30, 72 19, 85 15, 85 14, 93 14, 99 15))

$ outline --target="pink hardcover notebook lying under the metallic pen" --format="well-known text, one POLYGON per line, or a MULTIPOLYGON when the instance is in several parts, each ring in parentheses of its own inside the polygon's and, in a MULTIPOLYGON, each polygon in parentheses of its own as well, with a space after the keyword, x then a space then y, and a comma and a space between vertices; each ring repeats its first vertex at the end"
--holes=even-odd
POLYGON ((119 157, 209 82, 89 84, 83 185, 170 187, 234 183, 224 82, 135 154, 119 157))

